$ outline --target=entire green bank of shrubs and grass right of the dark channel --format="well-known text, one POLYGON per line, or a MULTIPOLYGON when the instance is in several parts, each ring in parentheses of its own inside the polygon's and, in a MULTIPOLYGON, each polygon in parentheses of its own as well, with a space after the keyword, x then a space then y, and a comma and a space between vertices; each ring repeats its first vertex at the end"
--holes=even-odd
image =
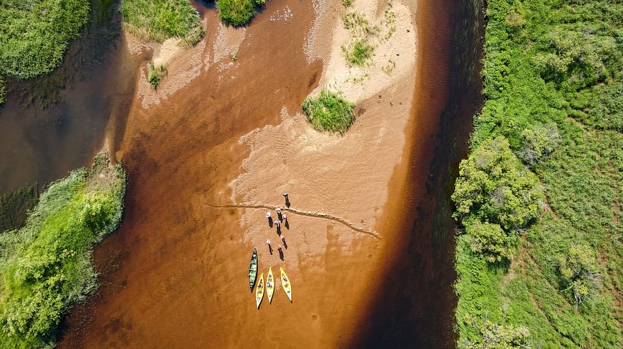
POLYGON ((458 347, 621 348, 623 3, 490 0, 486 19, 458 347))

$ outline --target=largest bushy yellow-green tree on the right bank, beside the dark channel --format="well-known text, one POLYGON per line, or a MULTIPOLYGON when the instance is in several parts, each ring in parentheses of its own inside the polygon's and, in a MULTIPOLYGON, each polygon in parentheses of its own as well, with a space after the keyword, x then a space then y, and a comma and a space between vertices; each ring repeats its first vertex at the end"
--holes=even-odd
POLYGON ((508 230, 536 219, 545 196, 534 173, 523 167, 508 141, 499 136, 461 162, 452 200, 455 218, 498 223, 508 230))

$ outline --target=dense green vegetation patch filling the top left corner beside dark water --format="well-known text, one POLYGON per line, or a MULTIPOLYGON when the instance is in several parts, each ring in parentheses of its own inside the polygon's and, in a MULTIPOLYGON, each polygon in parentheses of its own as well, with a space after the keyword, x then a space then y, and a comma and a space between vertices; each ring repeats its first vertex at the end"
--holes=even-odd
POLYGON ((59 66, 89 20, 88 0, 0 1, 0 104, 4 77, 30 79, 59 66))

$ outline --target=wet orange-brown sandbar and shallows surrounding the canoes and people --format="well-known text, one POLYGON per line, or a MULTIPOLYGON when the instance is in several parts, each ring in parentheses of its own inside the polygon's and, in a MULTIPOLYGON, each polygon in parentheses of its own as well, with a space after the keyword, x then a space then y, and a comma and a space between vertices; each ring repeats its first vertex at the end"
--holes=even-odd
MULTIPOLYGON (((329 77, 322 59, 335 46, 310 55, 305 43, 320 18, 333 37, 344 8, 314 6, 322 15, 272 1, 240 29, 210 21, 208 9, 206 37, 174 59, 154 99, 138 81, 117 152, 130 178, 124 224, 96 251, 103 286, 71 314, 61 348, 350 341, 359 304, 381 287, 370 280, 392 232, 377 226, 405 144, 415 64, 358 100, 345 136, 317 133, 300 104, 329 77), (176 84, 176 69, 192 77, 176 84), (282 205, 282 191, 293 209, 311 212, 289 215, 284 261, 268 254, 264 240, 277 234, 265 209, 253 208, 282 205), (236 282, 245 280, 253 247, 260 271, 285 267, 293 303, 278 292, 258 311, 247 285, 236 282)), ((404 32, 415 39, 413 29, 404 32)))

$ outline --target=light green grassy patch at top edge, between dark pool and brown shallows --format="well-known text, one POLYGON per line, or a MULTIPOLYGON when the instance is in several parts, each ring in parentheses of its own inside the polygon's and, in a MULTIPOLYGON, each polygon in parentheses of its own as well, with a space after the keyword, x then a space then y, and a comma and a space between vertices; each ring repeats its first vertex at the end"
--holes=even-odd
POLYGON ((121 14, 125 28, 143 39, 179 37, 183 45, 193 46, 204 37, 199 13, 188 0, 122 0, 121 14))

